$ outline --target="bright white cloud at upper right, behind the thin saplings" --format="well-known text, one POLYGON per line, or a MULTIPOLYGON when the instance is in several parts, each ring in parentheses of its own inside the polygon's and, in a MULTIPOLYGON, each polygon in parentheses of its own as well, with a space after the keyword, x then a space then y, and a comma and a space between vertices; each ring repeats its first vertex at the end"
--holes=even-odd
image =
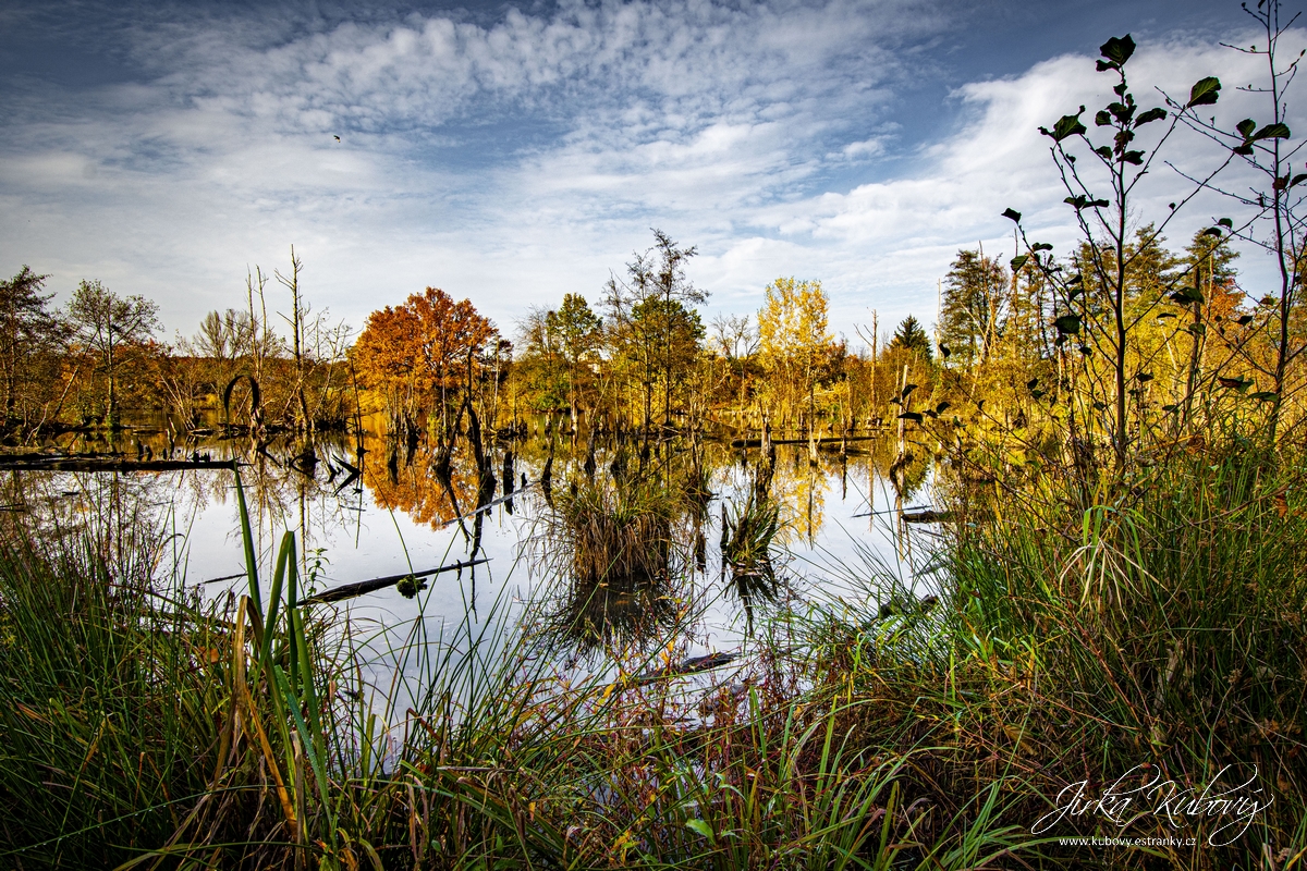
MULTIPOLYGON (((1286 39, 1285 50, 1293 56, 1298 46, 1287 42, 1300 43, 1303 35, 1286 39)), ((882 325, 910 311, 923 320, 933 317, 936 282, 961 247, 982 244, 987 252, 1010 256, 1013 225, 999 215, 1004 208, 1023 212, 1035 239, 1065 252, 1076 242, 1072 212, 1061 201, 1067 192, 1048 154, 1050 140, 1038 128, 1081 104, 1090 107, 1086 121, 1093 127, 1093 111, 1111 98, 1114 82, 1093 69, 1090 57, 1064 56, 1017 77, 961 87, 955 98, 963 103, 965 123, 955 135, 921 148, 911 168, 898 178, 754 210, 755 226, 791 243, 778 245, 763 261, 775 264, 776 274, 801 272, 826 278, 834 320, 851 332, 855 323, 870 320, 872 308, 880 309, 882 325), (788 259, 784 265, 782 257, 788 259)), ((1213 110, 1218 121, 1233 127, 1244 115, 1264 119, 1269 114, 1256 95, 1234 87, 1256 81, 1256 59, 1221 46, 1182 40, 1144 46, 1131 61, 1131 72, 1144 106, 1162 103, 1154 86, 1183 98, 1197 78, 1217 73, 1226 81, 1222 101, 1213 110)), ((1294 129, 1303 121, 1302 112, 1289 118, 1294 129)), ((1154 124, 1153 131, 1163 127, 1154 124)), ((1148 136, 1141 140, 1149 141, 1148 136)), ((1182 168, 1199 171, 1217 166, 1225 153, 1182 129, 1167 144, 1166 155, 1182 168)), ((1233 189, 1249 180, 1239 166, 1221 178, 1233 189)), ((1167 202, 1189 189, 1192 185, 1175 171, 1158 165, 1136 192, 1134 217, 1161 222, 1168 214, 1167 202)), ((1170 244, 1183 247, 1196 230, 1234 208, 1214 195, 1197 197, 1168 227, 1170 244)), ((738 244, 757 252, 754 240, 738 244)), ((1253 252, 1246 252, 1239 266, 1249 287, 1268 278, 1266 260, 1253 252)), ((766 268, 755 269, 755 281, 758 272, 767 274, 766 268)))

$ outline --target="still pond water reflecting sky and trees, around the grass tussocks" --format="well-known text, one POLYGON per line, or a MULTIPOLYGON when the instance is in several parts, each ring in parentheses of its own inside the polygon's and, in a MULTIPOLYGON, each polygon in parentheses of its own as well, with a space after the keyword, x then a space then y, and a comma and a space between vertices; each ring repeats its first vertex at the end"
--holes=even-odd
MULTIPOLYGON (((59 447, 105 449, 76 437, 61 439, 59 447)), ((623 640, 638 642, 656 637, 659 628, 668 629, 667 610, 657 602, 674 601, 680 603, 674 609, 677 650, 702 656, 748 645, 755 627, 778 607, 884 601, 889 593, 872 580, 868 563, 873 560, 897 575, 906 590, 924 594, 931 586, 928 577, 914 577, 912 569, 920 563, 920 538, 931 530, 919 529, 908 537, 897 524, 898 511, 929 504, 929 465, 918 460, 906 474, 891 477, 898 445, 889 439, 850 444, 847 452, 838 447, 823 451, 816 464, 809 461, 806 447, 780 445, 769 464, 758 448, 714 441, 664 444, 642 460, 639 445, 596 444, 588 451, 584 437, 536 435, 488 447, 497 478, 491 494, 478 486, 472 458, 463 456, 465 448, 455 454, 450 482, 443 486, 433 471, 435 457, 425 445, 365 435, 362 454, 358 447, 353 439, 320 439, 314 445, 316 462, 306 462, 297 458, 303 448, 299 443, 251 452, 247 443, 204 435, 170 443, 161 430, 149 427, 125 434, 115 445, 128 457, 148 449, 154 457, 227 458, 235 453, 248 462, 240 474, 261 572, 269 572, 284 533, 293 531, 302 575, 318 592, 488 560, 429 577, 412 598, 391 586, 331 606, 356 628, 369 627, 378 639, 391 637, 392 645, 417 624, 426 637, 435 639, 450 626, 476 626, 494 619, 491 615, 518 620, 529 615, 535 623, 553 619, 562 627, 561 642, 571 644, 571 662, 593 662, 623 640), (541 481, 546 467, 549 487, 541 481), (354 469, 359 474, 352 477, 354 469), (605 590, 599 595, 608 601, 599 603, 597 611, 592 601, 569 602, 580 593, 563 577, 572 554, 566 537, 558 534, 558 498, 566 500, 574 484, 613 490, 614 479, 637 477, 663 481, 670 490, 685 490, 686 481, 698 482, 691 487, 698 498, 680 509, 670 525, 673 551, 680 555, 672 560, 676 577, 667 580, 673 595, 665 595, 668 590, 605 590), (721 528, 724 518, 741 513, 750 494, 759 492, 759 477, 779 513, 779 528, 770 547, 774 582, 750 586, 723 569, 721 528), (511 492, 507 481, 512 481, 511 492), (490 507, 477 513, 476 505, 488 501, 490 507), (912 554, 914 546, 918 554, 912 554), (528 607, 532 603, 535 607, 528 607), (572 631, 580 614, 593 619, 586 631, 572 631), (596 628, 595 622, 604 626, 596 628), (661 627, 642 627, 642 622, 661 622, 661 627), (566 637, 569 633, 572 637, 566 637)), ((914 449, 919 457, 928 454, 924 445, 914 449)), ((12 473, 5 488, 8 509, 43 534, 86 524, 102 533, 154 530, 165 538, 159 577, 205 598, 244 592, 230 471, 22 471, 12 473)), ((584 595, 593 598, 596 592, 584 595)))

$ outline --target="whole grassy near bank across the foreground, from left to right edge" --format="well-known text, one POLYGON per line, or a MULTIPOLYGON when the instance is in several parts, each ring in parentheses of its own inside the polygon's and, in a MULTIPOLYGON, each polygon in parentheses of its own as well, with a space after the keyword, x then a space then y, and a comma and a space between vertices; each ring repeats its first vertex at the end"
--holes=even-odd
POLYGON ((642 678, 663 654, 563 673, 507 618, 413 635, 429 679, 403 710, 335 611, 295 605, 290 537, 250 595, 203 603, 159 586, 144 535, 13 530, 0 866, 1300 867, 1302 457, 1150 462, 1089 511, 1034 466, 958 490, 937 603, 844 565, 881 598, 762 620, 774 642, 716 678, 642 678), (1246 831, 1142 793, 1127 827, 1050 821, 1068 785, 1127 774, 1273 800, 1246 831))

